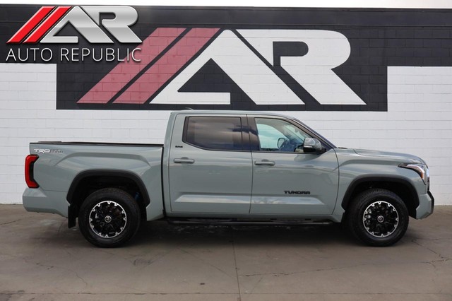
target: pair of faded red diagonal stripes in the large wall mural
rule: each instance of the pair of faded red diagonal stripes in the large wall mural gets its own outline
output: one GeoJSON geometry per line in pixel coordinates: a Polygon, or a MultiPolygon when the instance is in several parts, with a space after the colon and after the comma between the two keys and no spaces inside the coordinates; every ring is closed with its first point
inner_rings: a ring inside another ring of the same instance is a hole
{"type": "Polygon", "coordinates": [[[113,98],[114,103],[145,103],[171,81],[218,30],[157,28],[143,41],[141,52],[136,54],[141,61],[129,58],[117,64],[77,103],[106,104],[113,98]]]}

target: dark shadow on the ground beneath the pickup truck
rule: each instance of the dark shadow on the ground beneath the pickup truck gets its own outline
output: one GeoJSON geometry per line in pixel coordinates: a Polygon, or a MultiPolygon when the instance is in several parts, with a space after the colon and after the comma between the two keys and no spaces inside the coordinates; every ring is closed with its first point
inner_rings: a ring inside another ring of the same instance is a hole
{"type": "MultiPolygon", "coordinates": [[[[61,218],[52,225],[33,228],[32,240],[45,242],[47,247],[90,247],[78,225],[67,228],[61,218]]],[[[409,243],[417,237],[415,229],[408,229],[405,239],[396,245],[409,243]],[[410,238],[411,237],[411,238],[410,238]]],[[[351,237],[338,223],[331,225],[172,225],[166,221],[142,223],[135,237],[117,249],[143,247],[221,247],[234,244],[240,247],[368,247],[351,237]]]]}

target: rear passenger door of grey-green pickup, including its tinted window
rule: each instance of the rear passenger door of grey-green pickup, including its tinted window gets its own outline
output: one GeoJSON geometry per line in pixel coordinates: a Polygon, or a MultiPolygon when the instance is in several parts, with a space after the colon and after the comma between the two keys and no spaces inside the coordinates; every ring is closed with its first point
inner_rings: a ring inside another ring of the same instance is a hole
{"type": "Polygon", "coordinates": [[[252,164],[246,116],[180,114],[174,129],[168,165],[172,213],[248,214],[252,164]]]}

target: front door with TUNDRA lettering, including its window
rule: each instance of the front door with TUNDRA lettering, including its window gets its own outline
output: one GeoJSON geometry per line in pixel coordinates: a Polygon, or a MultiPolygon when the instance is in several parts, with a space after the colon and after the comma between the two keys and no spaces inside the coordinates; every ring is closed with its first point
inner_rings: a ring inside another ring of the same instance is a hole
{"type": "MultiPolygon", "coordinates": [[[[252,215],[328,215],[338,194],[338,160],[333,149],[303,153],[300,124],[274,117],[249,117],[254,128],[252,215]]],[[[252,142],[253,143],[253,142],[252,142]]]]}

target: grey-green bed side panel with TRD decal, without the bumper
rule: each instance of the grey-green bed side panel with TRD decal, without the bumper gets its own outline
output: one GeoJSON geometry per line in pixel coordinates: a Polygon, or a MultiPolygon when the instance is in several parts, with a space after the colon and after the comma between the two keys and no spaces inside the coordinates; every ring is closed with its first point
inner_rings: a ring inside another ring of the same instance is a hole
{"type": "MultiPolygon", "coordinates": [[[[59,191],[67,197],[73,179],[81,172],[95,170],[126,171],[139,177],[148,190],[148,220],[163,216],[161,160],[162,146],[125,146],[95,144],[30,144],[30,153],[40,158],[34,177],[40,189],[59,191]],[[42,149],[55,150],[42,153],[42,149]],[[37,151],[38,150],[38,151],[37,151]]],[[[52,194],[47,193],[47,195],[52,194]]],[[[54,200],[61,202],[64,200],[54,200]]]]}

